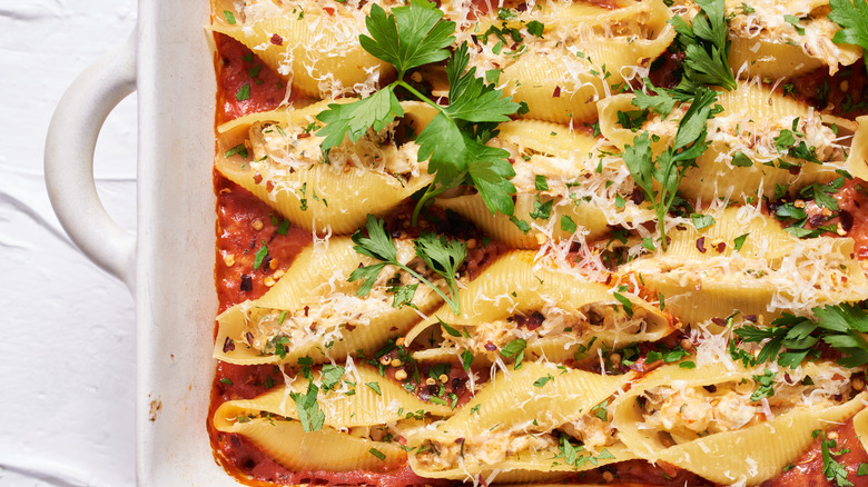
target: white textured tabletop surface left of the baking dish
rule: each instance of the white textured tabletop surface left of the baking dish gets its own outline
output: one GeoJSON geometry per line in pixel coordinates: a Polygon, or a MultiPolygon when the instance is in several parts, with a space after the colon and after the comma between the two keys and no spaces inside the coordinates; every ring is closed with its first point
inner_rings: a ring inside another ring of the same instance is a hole
{"type": "MultiPolygon", "coordinates": [[[[0,0],[0,486],[135,484],[134,305],[51,211],[42,147],[53,107],[127,39],[135,0],[0,0]]],[[[135,228],[136,100],[97,146],[103,205],[135,228]]]]}

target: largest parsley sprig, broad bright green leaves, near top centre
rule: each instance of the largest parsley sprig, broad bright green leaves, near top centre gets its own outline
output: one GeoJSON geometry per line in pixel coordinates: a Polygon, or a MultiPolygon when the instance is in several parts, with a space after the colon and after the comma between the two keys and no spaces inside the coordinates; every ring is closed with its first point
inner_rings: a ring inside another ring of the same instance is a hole
{"type": "Polygon", "coordinates": [[[374,4],[366,19],[371,36],[359,36],[362,47],[372,56],[392,63],[397,79],[371,97],[346,105],[329,105],[317,118],[328,123],[317,135],[325,137],[323,151],[328,152],[344,137],[355,142],[368,129],[382,130],[404,115],[395,93],[401,87],[418,100],[434,107],[436,117],[416,137],[418,160],[428,160],[428,173],[436,175],[413,212],[413,225],[420,211],[438,195],[462,185],[473,186],[492,213],[507,216],[514,211],[515,187],[510,178],[515,171],[509,152],[485,146],[496,132],[496,123],[507,121],[521,106],[476,77],[470,68],[467,44],[454,54],[446,49],[454,41],[455,23],[443,20],[443,12],[427,0],[413,0],[387,14],[374,4]],[[448,59],[448,105],[441,106],[404,81],[412,69],[448,59]]]}

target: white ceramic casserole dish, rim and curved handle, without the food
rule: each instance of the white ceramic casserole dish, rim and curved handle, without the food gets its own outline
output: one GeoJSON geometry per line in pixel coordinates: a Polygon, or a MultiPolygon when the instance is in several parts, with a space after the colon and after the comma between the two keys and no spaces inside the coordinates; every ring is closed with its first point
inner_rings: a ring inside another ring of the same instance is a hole
{"type": "Polygon", "coordinates": [[[217,310],[208,16],[207,1],[141,1],[136,31],[73,82],[46,143],[46,182],[61,225],[136,299],[140,486],[238,485],[216,464],[206,431],[217,310]],[[136,236],[108,217],[92,173],[99,129],[134,90],[136,236]]]}

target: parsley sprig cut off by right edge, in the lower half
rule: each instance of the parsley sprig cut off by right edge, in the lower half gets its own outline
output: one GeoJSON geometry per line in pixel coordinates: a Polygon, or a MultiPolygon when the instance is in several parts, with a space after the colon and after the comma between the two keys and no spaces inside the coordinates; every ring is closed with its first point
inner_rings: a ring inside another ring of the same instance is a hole
{"type": "Polygon", "coordinates": [[[838,364],[859,367],[868,364],[868,342],[861,334],[868,332],[868,314],[854,305],[827,305],[812,309],[816,320],[785,312],[768,328],[744,326],[736,335],[746,342],[768,341],[751,365],[775,361],[796,368],[806,358],[817,357],[816,346],[823,341],[844,354],[838,364]],[[786,348],[787,351],[780,351],[786,348]]]}

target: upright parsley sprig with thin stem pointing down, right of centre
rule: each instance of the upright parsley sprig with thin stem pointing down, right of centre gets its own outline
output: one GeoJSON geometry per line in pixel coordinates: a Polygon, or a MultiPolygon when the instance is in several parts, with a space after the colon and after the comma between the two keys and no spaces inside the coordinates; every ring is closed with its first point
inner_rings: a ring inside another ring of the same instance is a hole
{"type": "MultiPolygon", "coordinates": [[[[678,197],[678,187],[688,169],[697,166],[697,158],[708,149],[706,122],[722,109],[716,105],[717,92],[699,87],[690,108],[678,125],[672,145],[660,156],[651,149],[652,138],[642,132],[625,146],[623,158],[637,186],[647,201],[651,201],[660,227],[660,244],[667,249],[665,217],[678,197]],[[655,186],[659,185],[658,190],[655,186]]],[[[644,102],[644,101],[643,101],[644,102]]],[[[668,107],[667,107],[668,108],[668,107]]],[[[663,109],[665,111],[665,109],[663,109]]]]}

